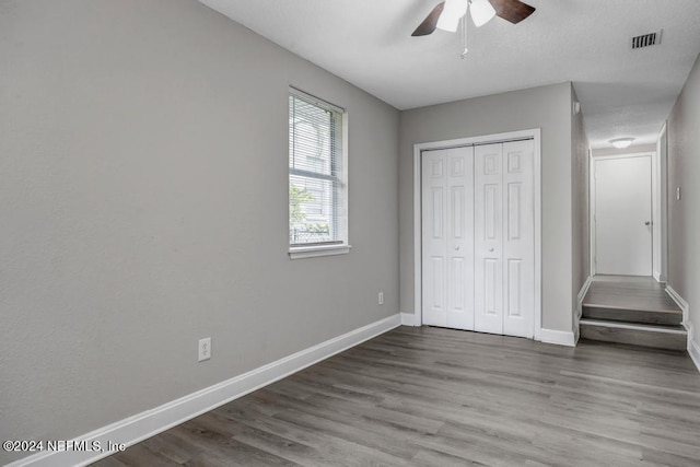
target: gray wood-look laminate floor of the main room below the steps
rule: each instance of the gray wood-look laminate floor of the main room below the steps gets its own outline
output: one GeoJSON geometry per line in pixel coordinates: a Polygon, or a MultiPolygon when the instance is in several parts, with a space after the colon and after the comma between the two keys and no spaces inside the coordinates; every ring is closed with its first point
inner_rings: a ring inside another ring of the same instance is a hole
{"type": "Polygon", "coordinates": [[[107,466],[699,466],[681,352],[400,327],[107,466]]]}

